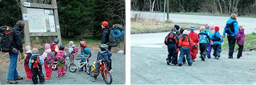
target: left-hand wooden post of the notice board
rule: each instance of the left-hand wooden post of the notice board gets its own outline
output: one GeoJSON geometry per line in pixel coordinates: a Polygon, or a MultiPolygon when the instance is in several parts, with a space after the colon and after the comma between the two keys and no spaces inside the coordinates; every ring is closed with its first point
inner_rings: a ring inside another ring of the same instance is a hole
{"type": "MultiPolygon", "coordinates": [[[[27,0],[21,0],[21,13],[22,13],[22,17],[23,14],[28,14],[27,11],[27,7],[24,6],[24,2],[26,2],[27,0]]],[[[31,43],[30,43],[30,31],[29,31],[29,21],[28,20],[23,20],[25,22],[25,26],[24,26],[24,39],[25,39],[25,46],[29,45],[32,47],[31,43]]]]}

